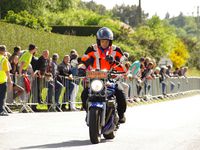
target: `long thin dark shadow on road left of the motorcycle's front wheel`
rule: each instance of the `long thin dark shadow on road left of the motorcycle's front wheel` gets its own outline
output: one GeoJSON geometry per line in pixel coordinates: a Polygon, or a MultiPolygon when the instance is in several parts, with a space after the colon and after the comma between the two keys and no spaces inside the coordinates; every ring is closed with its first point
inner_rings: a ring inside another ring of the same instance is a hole
{"type": "MultiPolygon", "coordinates": [[[[104,143],[105,140],[101,140],[101,143],[104,143]]],[[[76,146],[86,146],[86,145],[92,145],[90,140],[72,140],[67,142],[61,142],[61,143],[52,143],[52,144],[44,144],[44,145],[35,145],[35,146],[27,146],[27,147],[21,147],[19,149],[37,149],[37,148],[62,148],[62,147],[76,147],[76,146]]]]}

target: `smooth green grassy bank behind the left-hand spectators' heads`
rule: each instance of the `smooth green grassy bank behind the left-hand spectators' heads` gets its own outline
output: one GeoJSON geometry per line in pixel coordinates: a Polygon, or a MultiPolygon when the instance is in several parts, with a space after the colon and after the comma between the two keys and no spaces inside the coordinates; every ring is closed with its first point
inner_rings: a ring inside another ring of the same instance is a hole
{"type": "Polygon", "coordinates": [[[22,49],[27,49],[30,43],[34,43],[38,47],[38,56],[41,55],[42,50],[48,49],[51,55],[57,52],[62,58],[69,54],[71,49],[76,49],[82,55],[86,48],[94,42],[95,37],[92,36],[60,35],[0,22],[0,44],[6,45],[10,53],[17,45],[22,49]]]}

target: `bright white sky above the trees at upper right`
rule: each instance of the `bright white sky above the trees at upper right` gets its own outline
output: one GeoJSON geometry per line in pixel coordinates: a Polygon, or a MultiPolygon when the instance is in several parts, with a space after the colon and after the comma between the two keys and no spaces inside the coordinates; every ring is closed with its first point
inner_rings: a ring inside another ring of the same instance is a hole
{"type": "MultiPolygon", "coordinates": [[[[83,0],[91,1],[91,0],[83,0]]],[[[139,0],[93,0],[97,4],[103,4],[107,9],[111,9],[116,4],[138,5],[139,0]]],[[[163,19],[167,12],[170,17],[178,16],[183,12],[187,16],[197,16],[197,6],[200,7],[200,0],[141,0],[142,10],[152,15],[158,15],[163,19]]]]}

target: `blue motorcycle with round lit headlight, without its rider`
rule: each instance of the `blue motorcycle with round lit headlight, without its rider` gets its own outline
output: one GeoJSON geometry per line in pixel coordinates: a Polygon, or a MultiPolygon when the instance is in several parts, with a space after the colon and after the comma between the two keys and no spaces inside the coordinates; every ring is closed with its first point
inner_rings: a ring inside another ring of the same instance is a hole
{"type": "Polygon", "coordinates": [[[120,75],[116,71],[88,71],[89,96],[86,123],[90,141],[97,144],[103,134],[105,139],[114,139],[119,128],[115,89],[120,75]],[[114,76],[114,78],[113,78],[114,76]]]}

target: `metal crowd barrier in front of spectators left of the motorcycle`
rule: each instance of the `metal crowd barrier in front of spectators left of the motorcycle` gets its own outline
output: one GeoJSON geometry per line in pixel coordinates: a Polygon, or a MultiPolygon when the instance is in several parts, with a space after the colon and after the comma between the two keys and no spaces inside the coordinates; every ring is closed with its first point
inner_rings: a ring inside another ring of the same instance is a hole
{"type": "MultiPolygon", "coordinates": [[[[21,106],[20,112],[33,112],[32,106],[45,104],[48,111],[62,111],[62,105],[68,105],[71,110],[75,109],[76,97],[79,90],[80,79],[69,80],[60,76],[60,82],[51,77],[34,77],[29,76],[31,82],[31,92],[26,91],[16,99],[13,98],[13,91],[7,91],[5,107],[21,106]]],[[[16,77],[16,84],[25,88],[24,77],[16,77]]],[[[11,110],[9,110],[11,111],[11,110]]]]}

